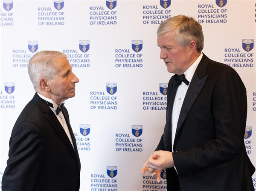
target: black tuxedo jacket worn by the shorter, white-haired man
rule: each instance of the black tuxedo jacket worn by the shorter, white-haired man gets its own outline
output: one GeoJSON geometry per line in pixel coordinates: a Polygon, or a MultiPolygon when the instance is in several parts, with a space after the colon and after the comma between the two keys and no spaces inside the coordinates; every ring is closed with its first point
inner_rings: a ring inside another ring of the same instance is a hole
{"type": "Polygon", "coordinates": [[[53,111],[35,94],[12,130],[2,191],[79,191],[80,160],[67,109],[63,114],[73,145],[53,111]]]}

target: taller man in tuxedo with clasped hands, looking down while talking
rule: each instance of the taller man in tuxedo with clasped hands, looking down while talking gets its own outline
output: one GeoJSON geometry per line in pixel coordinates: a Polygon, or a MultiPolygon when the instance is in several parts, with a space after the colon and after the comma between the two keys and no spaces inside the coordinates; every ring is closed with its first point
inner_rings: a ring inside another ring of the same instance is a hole
{"type": "Polygon", "coordinates": [[[160,181],[166,170],[168,191],[254,191],[241,78],[202,53],[202,27],[192,17],[177,15],[161,23],[157,45],[175,75],[168,84],[163,135],[142,173],[160,181]]]}

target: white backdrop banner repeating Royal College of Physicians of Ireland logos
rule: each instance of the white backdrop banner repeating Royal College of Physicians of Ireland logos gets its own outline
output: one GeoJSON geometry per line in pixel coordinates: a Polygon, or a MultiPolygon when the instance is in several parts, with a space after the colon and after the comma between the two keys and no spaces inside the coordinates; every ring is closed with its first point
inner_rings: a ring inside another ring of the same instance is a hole
{"type": "Polygon", "coordinates": [[[173,75],[159,58],[156,31],[177,14],[195,17],[204,54],[241,76],[244,142],[256,166],[255,0],[0,0],[0,190],[12,127],[35,94],[28,61],[57,50],[80,80],[76,97],[65,101],[81,159],[80,191],[166,191],[165,174],[157,183],[140,171],[163,134],[173,75]]]}

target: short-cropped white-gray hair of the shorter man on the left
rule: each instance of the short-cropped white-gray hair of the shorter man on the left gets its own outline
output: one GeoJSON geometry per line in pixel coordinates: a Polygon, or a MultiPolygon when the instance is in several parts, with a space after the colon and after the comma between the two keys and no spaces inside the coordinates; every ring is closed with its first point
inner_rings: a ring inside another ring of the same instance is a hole
{"type": "Polygon", "coordinates": [[[29,60],[29,77],[35,90],[40,88],[40,78],[52,80],[58,73],[55,65],[58,58],[67,58],[67,55],[59,51],[39,51],[29,60]]]}

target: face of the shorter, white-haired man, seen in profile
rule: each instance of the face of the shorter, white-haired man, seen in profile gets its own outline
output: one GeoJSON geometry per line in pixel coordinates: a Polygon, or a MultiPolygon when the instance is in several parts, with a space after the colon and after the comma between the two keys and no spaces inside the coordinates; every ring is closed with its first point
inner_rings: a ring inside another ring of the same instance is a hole
{"type": "Polygon", "coordinates": [[[58,73],[53,80],[48,80],[48,83],[51,88],[52,100],[60,105],[64,100],[76,95],[75,86],[79,79],[72,72],[72,67],[66,58],[58,58],[56,66],[58,73]]]}

